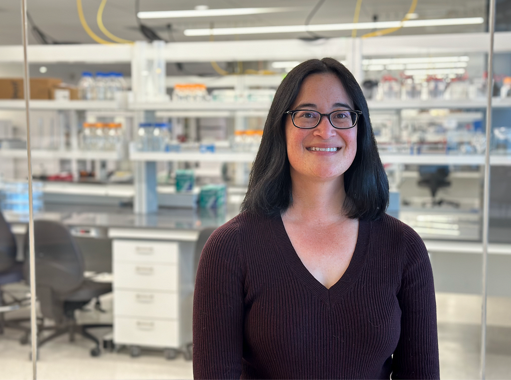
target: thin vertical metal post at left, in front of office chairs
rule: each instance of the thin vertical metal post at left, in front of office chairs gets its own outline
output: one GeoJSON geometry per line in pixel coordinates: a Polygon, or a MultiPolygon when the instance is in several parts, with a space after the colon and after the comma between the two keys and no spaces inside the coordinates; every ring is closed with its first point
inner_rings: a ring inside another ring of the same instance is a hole
{"type": "Polygon", "coordinates": [[[35,253],[34,253],[34,213],[32,207],[32,152],[30,146],[30,76],[27,57],[28,26],[27,0],[21,0],[21,30],[23,36],[23,66],[25,71],[25,113],[27,116],[27,158],[29,176],[29,249],[30,249],[30,326],[32,332],[32,376],[37,379],[37,316],[35,310],[35,253]]]}

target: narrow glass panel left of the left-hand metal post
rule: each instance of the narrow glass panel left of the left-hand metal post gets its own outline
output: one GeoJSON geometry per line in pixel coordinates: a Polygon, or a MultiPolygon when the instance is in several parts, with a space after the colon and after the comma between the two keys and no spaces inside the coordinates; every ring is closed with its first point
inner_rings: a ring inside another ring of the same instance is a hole
{"type": "MultiPolygon", "coordinates": [[[[0,6],[0,45],[20,45],[19,2],[0,6]],[[7,31],[7,29],[9,31],[7,31]]],[[[31,378],[27,123],[22,61],[0,58],[0,378],[31,378]],[[19,100],[11,100],[19,99],[19,100]],[[10,155],[10,150],[16,154],[10,155]]],[[[35,185],[37,192],[37,185],[35,185]]]]}

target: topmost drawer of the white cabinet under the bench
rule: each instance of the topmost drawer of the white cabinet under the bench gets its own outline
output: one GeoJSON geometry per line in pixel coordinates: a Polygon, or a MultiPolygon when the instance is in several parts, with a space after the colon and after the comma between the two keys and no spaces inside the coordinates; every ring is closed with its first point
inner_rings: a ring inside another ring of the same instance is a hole
{"type": "Polygon", "coordinates": [[[144,240],[114,240],[113,260],[145,263],[177,263],[179,244],[144,240]]]}

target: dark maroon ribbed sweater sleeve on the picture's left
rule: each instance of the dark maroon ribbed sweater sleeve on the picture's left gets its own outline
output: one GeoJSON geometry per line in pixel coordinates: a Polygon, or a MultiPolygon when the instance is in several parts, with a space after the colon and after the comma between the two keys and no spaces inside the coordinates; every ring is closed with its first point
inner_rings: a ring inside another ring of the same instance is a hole
{"type": "Polygon", "coordinates": [[[195,380],[239,380],[243,354],[244,263],[235,221],[218,228],[199,261],[193,306],[195,380]]]}

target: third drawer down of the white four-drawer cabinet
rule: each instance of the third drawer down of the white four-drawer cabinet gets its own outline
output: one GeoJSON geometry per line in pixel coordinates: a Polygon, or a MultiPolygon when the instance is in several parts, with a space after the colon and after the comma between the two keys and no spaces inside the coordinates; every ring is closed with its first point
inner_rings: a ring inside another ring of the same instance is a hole
{"type": "Polygon", "coordinates": [[[134,292],[116,290],[113,313],[124,317],[178,318],[176,293],[134,292]]]}

